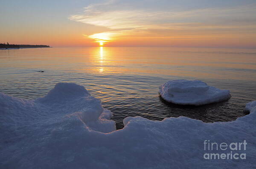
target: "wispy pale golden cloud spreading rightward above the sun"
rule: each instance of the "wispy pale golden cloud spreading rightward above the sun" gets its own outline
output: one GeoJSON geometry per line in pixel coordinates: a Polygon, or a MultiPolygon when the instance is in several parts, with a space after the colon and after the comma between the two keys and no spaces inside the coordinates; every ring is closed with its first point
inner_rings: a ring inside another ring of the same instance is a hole
{"type": "MultiPolygon", "coordinates": [[[[224,33],[229,30],[253,30],[256,28],[256,4],[216,7],[193,8],[190,10],[147,6],[131,8],[122,1],[110,0],[105,3],[91,4],[85,7],[84,13],[69,17],[81,23],[102,26],[110,29],[108,32],[89,35],[92,39],[110,41],[122,36],[173,36],[174,34],[207,34],[224,33]],[[208,31],[208,32],[207,32],[208,31]]],[[[131,1],[133,7],[137,1],[131,1]]],[[[166,6],[172,6],[172,1],[166,1],[166,6]]]]}

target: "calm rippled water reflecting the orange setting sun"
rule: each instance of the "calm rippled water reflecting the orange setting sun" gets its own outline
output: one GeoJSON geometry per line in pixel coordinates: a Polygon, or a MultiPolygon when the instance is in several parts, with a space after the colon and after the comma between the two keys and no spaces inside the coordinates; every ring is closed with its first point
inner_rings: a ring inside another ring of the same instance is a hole
{"type": "Polygon", "coordinates": [[[36,99],[58,82],[83,85],[113,112],[117,128],[127,116],[151,120],[180,115],[205,122],[233,121],[256,100],[256,50],[207,48],[36,48],[0,50],[0,92],[36,99]],[[43,70],[44,72],[37,72],[43,70]],[[158,96],[173,79],[199,79],[228,89],[229,101],[177,106],[158,96]]]}

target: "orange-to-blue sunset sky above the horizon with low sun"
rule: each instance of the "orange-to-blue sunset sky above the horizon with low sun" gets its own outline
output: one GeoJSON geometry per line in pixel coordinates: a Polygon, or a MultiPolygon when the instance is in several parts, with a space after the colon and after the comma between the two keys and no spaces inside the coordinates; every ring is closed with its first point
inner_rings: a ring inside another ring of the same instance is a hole
{"type": "Polygon", "coordinates": [[[255,0],[6,0],[0,42],[256,48],[255,0]]]}

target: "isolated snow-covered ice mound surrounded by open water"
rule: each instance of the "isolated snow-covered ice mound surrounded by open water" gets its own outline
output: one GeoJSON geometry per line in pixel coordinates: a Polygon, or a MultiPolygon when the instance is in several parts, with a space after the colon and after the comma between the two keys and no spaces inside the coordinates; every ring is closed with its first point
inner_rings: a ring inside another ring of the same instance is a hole
{"type": "Polygon", "coordinates": [[[203,105],[225,101],[230,98],[229,90],[220,90],[195,80],[172,80],[159,87],[161,97],[174,104],[203,105]]]}

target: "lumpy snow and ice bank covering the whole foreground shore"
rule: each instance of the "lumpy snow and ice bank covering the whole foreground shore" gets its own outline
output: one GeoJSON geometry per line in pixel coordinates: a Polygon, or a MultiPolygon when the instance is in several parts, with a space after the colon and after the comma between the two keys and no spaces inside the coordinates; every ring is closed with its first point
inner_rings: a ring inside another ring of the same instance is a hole
{"type": "Polygon", "coordinates": [[[37,100],[0,93],[0,168],[253,168],[255,104],[247,104],[249,115],[231,122],[128,117],[122,130],[113,131],[111,112],[79,85],[59,83],[37,100]],[[246,159],[204,159],[215,152],[204,150],[205,140],[246,140],[246,150],[233,151],[246,153],[246,159]]]}

